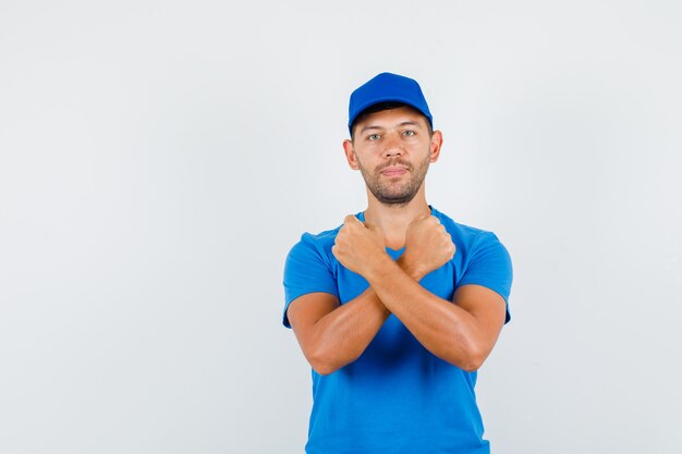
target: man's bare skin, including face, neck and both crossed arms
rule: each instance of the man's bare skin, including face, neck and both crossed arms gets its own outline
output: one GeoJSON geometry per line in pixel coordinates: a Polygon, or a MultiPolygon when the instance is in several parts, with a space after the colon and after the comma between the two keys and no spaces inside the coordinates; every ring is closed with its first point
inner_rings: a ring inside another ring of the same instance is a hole
{"type": "Polygon", "coordinates": [[[427,120],[411,108],[373,113],[344,140],[349,165],[363,174],[368,206],[365,222],[348,216],[332,253],[369,287],[340,305],[327,293],[291,303],[289,320],[310,366],[331,373],[362,355],[393,314],[434,355],[464,370],[478,369],[504,323],[506,304],[479,285],[459,287],[452,300],[418,281],[455,254],[452,238],[430,216],[424,177],[438,160],[442,134],[429,135],[427,120]],[[386,247],[405,247],[399,260],[386,247]]]}

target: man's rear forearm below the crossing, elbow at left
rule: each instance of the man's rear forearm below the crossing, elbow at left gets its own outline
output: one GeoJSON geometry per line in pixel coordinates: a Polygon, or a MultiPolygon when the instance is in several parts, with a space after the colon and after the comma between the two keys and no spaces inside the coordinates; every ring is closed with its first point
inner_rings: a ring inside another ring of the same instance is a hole
{"type": "Polygon", "coordinates": [[[367,348],[390,311],[368,287],[354,299],[321,317],[310,331],[306,357],[321,375],[354,361],[367,348]]]}

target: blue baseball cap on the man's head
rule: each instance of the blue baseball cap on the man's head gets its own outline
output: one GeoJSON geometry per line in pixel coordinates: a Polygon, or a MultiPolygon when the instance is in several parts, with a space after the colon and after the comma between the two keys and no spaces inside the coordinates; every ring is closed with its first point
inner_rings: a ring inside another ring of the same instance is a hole
{"type": "Polygon", "coordinates": [[[413,78],[391,73],[381,73],[351,94],[349,105],[349,131],[352,133],[353,122],[364,110],[379,102],[402,102],[415,108],[428,119],[434,127],[431,112],[419,84],[413,78]]]}

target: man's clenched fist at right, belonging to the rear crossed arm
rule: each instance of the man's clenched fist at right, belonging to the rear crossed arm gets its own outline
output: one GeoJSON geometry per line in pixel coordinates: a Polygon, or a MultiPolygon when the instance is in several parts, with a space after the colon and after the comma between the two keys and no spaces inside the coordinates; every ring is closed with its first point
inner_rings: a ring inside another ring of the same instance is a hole
{"type": "Polygon", "coordinates": [[[454,257],[452,237],[435,216],[424,216],[407,225],[405,251],[400,265],[419,280],[454,257]]]}

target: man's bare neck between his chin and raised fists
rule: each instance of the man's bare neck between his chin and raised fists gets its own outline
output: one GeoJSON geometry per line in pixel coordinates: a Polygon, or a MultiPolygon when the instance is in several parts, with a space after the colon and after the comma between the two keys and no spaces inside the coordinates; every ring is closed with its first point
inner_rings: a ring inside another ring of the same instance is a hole
{"type": "Polygon", "coordinates": [[[405,205],[385,205],[369,196],[365,221],[383,231],[386,246],[391,249],[400,249],[405,245],[405,232],[410,222],[430,213],[424,193],[419,193],[405,205]]]}

